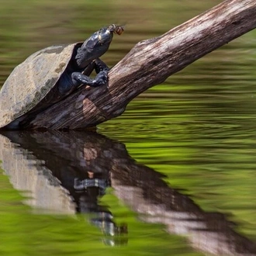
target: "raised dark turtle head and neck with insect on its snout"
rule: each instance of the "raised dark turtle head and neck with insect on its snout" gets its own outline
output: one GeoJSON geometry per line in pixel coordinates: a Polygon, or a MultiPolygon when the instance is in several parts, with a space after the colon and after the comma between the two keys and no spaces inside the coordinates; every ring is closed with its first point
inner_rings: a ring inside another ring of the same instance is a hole
{"type": "Polygon", "coordinates": [[[93,60],[101,57],[109,49],[112,41],[113,33],[121,34],[123,32],[122,26],[112,24],[108,27],[99,29],[90,36],[78,48],[78,53],[75,57],[79,67],[86,67],[93,60]]]}

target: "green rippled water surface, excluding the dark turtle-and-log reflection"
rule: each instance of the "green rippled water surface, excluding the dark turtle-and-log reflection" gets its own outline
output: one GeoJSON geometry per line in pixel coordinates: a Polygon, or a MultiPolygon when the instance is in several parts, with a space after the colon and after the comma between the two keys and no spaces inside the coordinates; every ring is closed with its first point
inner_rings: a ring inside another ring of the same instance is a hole
{"type": "MultiPolygon", "coordinates": [[[[138,41],[218,2],[1,2],[0,85],[36,50],[84,40],[112,22],[126,24],[102,58],[112,66],[138,41]]],[[[196,61],[130,102],[123,116],[99,126],[99,133],[125,144],[130,157],[165,175],[159,179],[189,195],[203,212],[225,214],[236,223],[232,230],[251,243],[256,241],[255,36],[251,31],[196,61]]],[[[46,214],[25,205],[5,175],[0,192],[3,255],[203,254],[190,246],[187,235],[169,234],[163,223],[139,217],[111,188],[100,204],[129,228],[128,242],[118,247],[102,242],[104,235],[86,214],[46,214]]]]}

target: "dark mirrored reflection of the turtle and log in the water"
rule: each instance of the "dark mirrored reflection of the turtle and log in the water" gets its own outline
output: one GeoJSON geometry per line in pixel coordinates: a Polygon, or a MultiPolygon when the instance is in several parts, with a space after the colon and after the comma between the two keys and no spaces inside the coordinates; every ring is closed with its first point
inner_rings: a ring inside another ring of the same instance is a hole
{"type": "Polygon", "coordinates": [[[16,189],[31,192],[30,205],[62,213],[97,213],[92,222],[101,228],[107,223],[104,232],[127,233],[125,224],[117,227],[109,210],[99,206],[99,196],[111,185],[141,220],[164,223],[168,232],[185,235],[200,251],[256,255],[256,244],[238,234],[225,215],[204,212],[189,196],[171,189],[164,175],[138,164],[118,141],[74,131],[2,134],[2,168],[16,189]]]}

